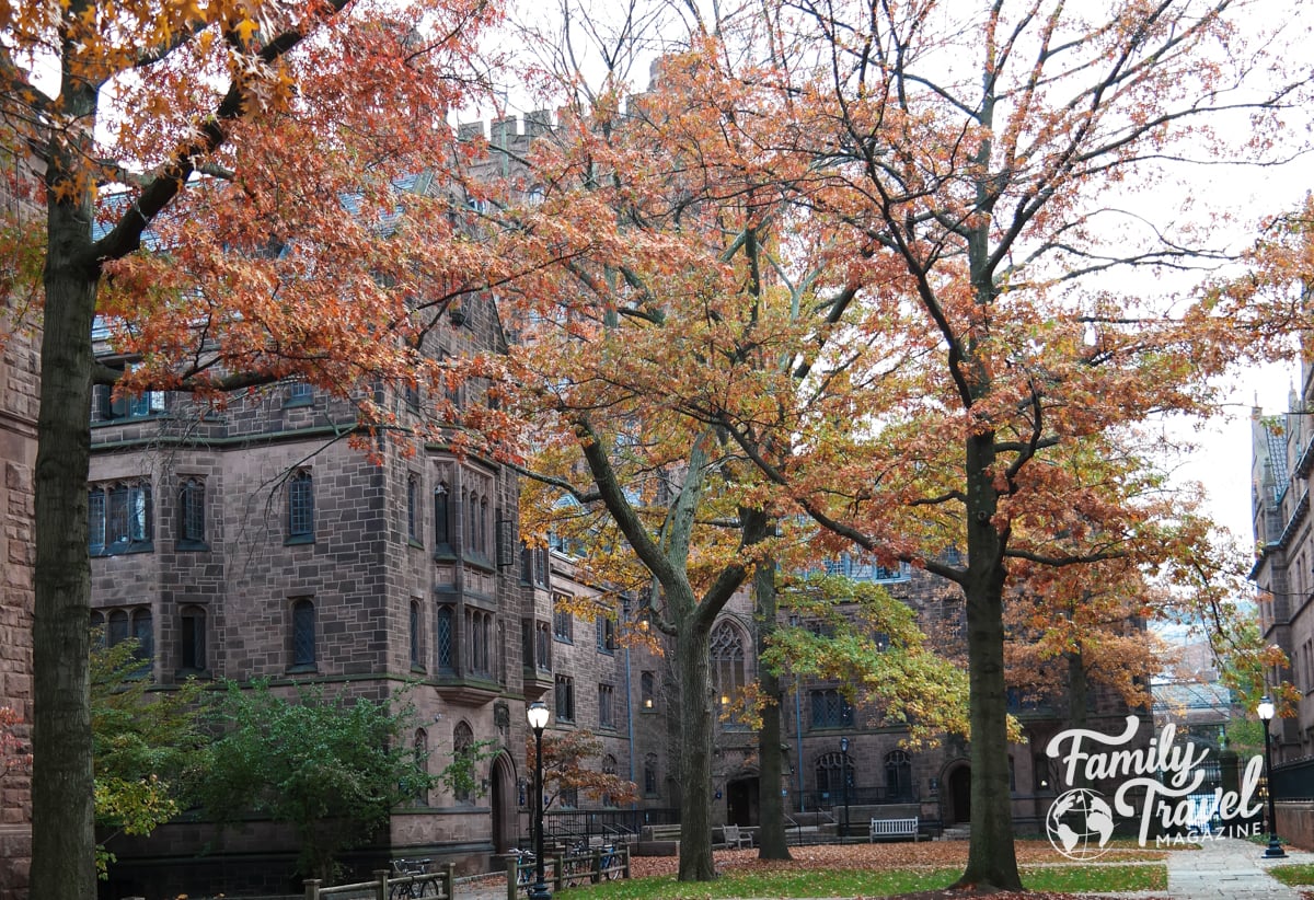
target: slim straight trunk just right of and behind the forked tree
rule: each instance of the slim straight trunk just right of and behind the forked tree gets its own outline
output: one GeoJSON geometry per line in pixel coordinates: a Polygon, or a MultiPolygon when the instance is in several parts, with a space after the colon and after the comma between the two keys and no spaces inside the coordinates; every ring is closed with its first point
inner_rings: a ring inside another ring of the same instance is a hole
{"type": "MultiPolygon", "coordinates": [[[[754,607],[757,608],[757,658],[762,658],[775,631],[775,565],[759,562],[753,577],[754,607]]],[[[766,666],[757,673],[758,685],[766,703],[762,707],[762,728],[757,733],[758,755],[758,829],[759,859],[792,859],[784,836],[784,798],[781,796],[781,678],[766,666]]],[[[802,763],[802,761],[800,761],[802,763]]]]}

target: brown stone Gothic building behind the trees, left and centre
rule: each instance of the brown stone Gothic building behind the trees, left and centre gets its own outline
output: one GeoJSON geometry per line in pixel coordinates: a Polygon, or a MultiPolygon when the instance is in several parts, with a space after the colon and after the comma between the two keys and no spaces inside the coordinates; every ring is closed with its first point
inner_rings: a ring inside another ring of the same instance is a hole
{"type": "MultiPolygon", "coordinates": [[[[494,122],[490,142],[523,151],[541,122],[531,117],[523,130],[511,120],[494,122]]],[[[430,352],[456,356],[505,340],[487,298],[465,301],[448,326],[432,332],[430,352]]],[[[7,560],[30,552],[22,523],[30,515],[35,368],[34,352],[18,348],[7,348],[9,407],[0,411],[0,440],[14,441],[5,447],[0,487],[0,508],[17,516],[0,537],[7,560]]],[[[102,349],[106,364],[131,364],[102,349]]],[[[426,414],[427,398],[415,392],[390,392],[386,402],[402,422],[426,414]]],[[[689,790],[710,791],[716,821],[761,824],[757,736],[731,712],[737,688],[757,677],[745,595],[712,635],[716,692],[727,707],[714,783],[683,784],[669,654],[618,640],[640,627],[629,604],[618,610],[599,599],[598,615],[566,611],[603,594],[579,577],[566,547],[522,545],[519,485],[509,469],[442,444],[414,455],[380,444],[378,459],[367,459],[344,440],[355,424],[350,406],[301,382],[234,397],[215,410],[181,395],[113,398],[97,390],[89,416],[92,621],[110,642],[138,639],[156,685],[167,690],[193,675],[263,678],[277,690],[321,683],[386,698],[414,683],[411,740],[430,753],[432,771],[456,748],[494,741],[480,790],[417,798],[348,862],[430,857],[474,871],[523,842],[532,791],[524,711],[537,699],[552,709],[549,729],[597,733],[603,752],[587,765],[629,778],[639,792],[625,808],[568,798],[551,828],[636,830],[670,820],[689,790]]],[[[950,650],[961,642],[962,596],[953,586],[908,568],[836,565],[912,604],[933,641],[950,650]]],[[[20,639],[30,616],[24,573],[5,568],[0,620],[20,639]]],[[[26,644],[3,646],[9,656],[0,654],[0,696],[25,703],[26,644]],[[11,657],[24,658],[11,665],[11,657]]],[[[786,682],[786,776],[778,790],[790,815],[834,822],[846,807],[858,824],[892,808],[946,826],[970,822],[966,745],[908,749],[904,729],[882,724],[876,709],[850,703],[840,687],[786,682]]],[[[1020,699],[1014,712],[1030,742],[1012,754],[1013,813],[1020,830],[1034,832],[1055,794],[1045,741],[1063,724],[1054,704],[1020,699]]],[[[1099,698],[1096,719],[1123,713],[1116,700],[1099,698]]],[[[14,803],[26,809],[22,798],[14,803]]],[[[148,840],[114,838],[109,849],[120,859],[110,896],[296,887],[290,834],[268,822],[217,834],[184,819],[148,840]]]]}

